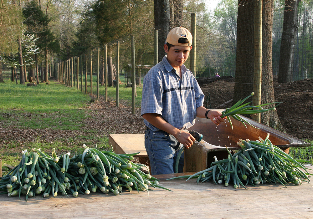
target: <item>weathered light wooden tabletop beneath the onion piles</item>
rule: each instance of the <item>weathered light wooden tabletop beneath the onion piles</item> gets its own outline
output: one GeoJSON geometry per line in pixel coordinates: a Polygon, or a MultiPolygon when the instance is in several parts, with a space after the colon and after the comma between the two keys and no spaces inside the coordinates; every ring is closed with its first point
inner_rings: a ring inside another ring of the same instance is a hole
{"type": "MultiPolygon", "coordinates": [[[[310,171],[313,173],[313,171],[310,171]]],[[[169,175],[158,175],[166,179],[169,175]]],[[[173,191],[123,192],[119,196],[93,193],[79,197],[0,195],[0,218],[313,218],[313,185],[263,184],[233,189],[195,179],[160,183],[173,191]]]]}

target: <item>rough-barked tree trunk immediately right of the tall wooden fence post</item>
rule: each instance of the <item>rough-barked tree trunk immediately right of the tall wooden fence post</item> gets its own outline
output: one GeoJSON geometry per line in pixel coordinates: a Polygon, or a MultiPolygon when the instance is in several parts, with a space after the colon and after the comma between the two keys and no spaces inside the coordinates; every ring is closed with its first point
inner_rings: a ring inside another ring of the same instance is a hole
{"type": "MultiPolygon", "coordinates": [[[[263,1],[262,13],[262,86],[261,104],[275,102],[272,72],[272,34],[273,34],[273,0],[263,1]]],[[[265,107],[265,106],[264,106],[265,107]]],[[[266,106],[267,109],[274,104],[266,106]]],[[[261,113],[261,123],[276,130],[283,127],[276,110],[261,113]]]]}

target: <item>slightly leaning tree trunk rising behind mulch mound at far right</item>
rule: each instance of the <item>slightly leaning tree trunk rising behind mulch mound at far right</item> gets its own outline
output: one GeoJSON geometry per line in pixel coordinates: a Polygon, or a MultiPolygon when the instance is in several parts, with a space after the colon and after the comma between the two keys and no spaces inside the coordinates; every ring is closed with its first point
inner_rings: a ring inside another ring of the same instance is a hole
{"type": "Polygon", "coordinates": [[[299,0],[285,0],[283,32],[280,44],[278,83],[292,81],[299,0]]]}

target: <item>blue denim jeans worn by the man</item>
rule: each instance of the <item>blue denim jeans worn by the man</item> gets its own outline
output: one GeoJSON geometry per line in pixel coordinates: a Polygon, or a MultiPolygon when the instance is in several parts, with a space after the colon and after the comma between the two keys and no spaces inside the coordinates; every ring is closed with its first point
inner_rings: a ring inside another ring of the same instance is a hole
{"type": "MultiPolygon", "coordinates": [[[[177,154],[182,146],[173,135],[162,130],[152,131],[147,128],[145,131],[145,147],[150,160],[151,174],[174,173],[177,154]]],[[[182,153],[178,172],[182,172],[183,167],[184,154],[182,153]]]]}

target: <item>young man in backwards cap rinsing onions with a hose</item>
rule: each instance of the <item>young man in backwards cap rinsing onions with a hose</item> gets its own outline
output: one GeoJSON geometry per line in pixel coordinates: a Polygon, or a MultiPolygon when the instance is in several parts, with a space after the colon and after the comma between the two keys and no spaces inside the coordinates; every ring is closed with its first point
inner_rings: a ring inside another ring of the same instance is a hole
{"type": "MultiPolygon", "coordinates": [[[[183,27],[167,35],[167,56],[149,70],[143,81],[141,115],[147,126],[145,147],[151,173],[174,173],[177,151],[191,147],[195,138],[183,131],[196,117],[210,118],[219,125],[223,118],[216,110],[203,107],[204,94],[192,72],[184,65],[192,49],[192,35],[183,27]]],[[[179,160],[182,172],[183,156],[179,160]]]]}

